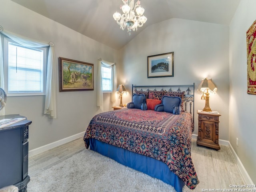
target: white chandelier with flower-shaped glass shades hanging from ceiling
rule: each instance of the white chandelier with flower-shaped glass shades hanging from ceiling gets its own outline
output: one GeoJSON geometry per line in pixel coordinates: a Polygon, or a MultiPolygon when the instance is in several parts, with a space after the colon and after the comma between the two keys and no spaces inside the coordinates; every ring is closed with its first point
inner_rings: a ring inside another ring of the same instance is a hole
{"type": "Polygon", "coordinates": [[[120,6],[124,14],[115,12],[113,14],[114,20],[120,25],[120,28],[124,30],[127,27],[128,34],[131,35],[131,31],[137,31],[138,27],[142,27],[147,21],[147,18],[143,15],[144,8],[140,6],[138,0],[134,5],[134,0],[122,0],[124,5],[120,6]],[[135,14],[136,12],[136,14],[135,14]]]}

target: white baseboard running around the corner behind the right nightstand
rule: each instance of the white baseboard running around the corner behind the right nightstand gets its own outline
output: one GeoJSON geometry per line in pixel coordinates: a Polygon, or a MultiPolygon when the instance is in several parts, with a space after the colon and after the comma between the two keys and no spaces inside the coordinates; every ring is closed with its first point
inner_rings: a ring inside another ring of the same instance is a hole
{"type": "MultiPolygon", "coordinates": [[[[192,134],[193,139],[197,139],[197,136],[198,135],[196,135],[196,134],[192,134]]],[[[232,147],[232,145],[230,144],[230,142],[227,140],[219,139],[219,144],[229,146],[229,150],[236,162],[236,165],[238,166],[238,170],[240,171],[240,173],[242,174],[242,176],[244,178],[244,183],[253,185],[254,183],[252,182],[252,179],[250,178],[248,172],[244,168],[244,165],[240,161],[239,157],[237,156],[237,154],[236,154],[234,148],[232,147]]]]}

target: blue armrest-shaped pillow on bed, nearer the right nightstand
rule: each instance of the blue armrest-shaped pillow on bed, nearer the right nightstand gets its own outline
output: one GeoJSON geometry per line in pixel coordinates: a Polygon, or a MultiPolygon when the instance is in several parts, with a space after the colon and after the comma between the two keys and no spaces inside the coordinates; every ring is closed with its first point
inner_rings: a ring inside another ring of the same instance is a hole
{"type": "Polygon", "coordinates": [[[173,114],[180,114],[180,97],[163,96],[162,104],[155,107],[155,111],[164,111],[173,114]]]}

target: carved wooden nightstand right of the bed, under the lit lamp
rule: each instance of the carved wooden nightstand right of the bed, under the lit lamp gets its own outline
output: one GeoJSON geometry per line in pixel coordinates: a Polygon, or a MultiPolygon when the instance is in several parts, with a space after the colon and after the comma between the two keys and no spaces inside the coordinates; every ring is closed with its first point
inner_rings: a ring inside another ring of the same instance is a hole
{"type": "Polygon", "coordinates": [[[219,145],[219,116],[218,112],[210,113],[198,110],[197,145],[220,149],[219,145]]]}

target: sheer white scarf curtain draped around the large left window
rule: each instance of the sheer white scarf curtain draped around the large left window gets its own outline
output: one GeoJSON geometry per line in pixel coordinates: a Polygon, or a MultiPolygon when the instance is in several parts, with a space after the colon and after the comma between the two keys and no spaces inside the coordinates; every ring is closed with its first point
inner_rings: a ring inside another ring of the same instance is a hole
{"type": "MultiPolygon", "coordinates": [[[[2,29],[0,27],[0,29],[2,29]]],[[[46,78],[46,95],[45,95],[45,105],[44,105],[44,114],[48,114],[50,118],[56,118],[56,82],[55,82],[55,66],[56,60],[54,55],[54,44],[53,42],[45,43],[38,42],[23,36],[19,36],[12,32],[6,30],[0,31],[0,35],[4,34],[14,40],[15,42],[31,48],[38,47],[47,47],[49,46],[48,52],[48,62],[47,62],[47,78],[46,78]]],[[[2,43],[0,43],[0,85],[4,88],[4,64],[3,64],[3,49],[2,43]]]]}

